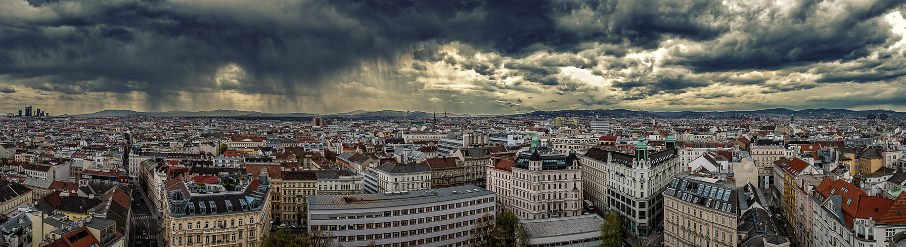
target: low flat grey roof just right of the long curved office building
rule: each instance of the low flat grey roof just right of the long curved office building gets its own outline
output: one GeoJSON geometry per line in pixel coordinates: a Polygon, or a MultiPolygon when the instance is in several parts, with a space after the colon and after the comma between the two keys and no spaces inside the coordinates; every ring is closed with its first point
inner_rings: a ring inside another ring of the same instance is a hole
{"type": "Polygon", "coordinates": [[[598,214],[582,214],[559,218],[520,220],[530,238],[543,238],[578,233],[601,232],[604,219],[598,214]]]}

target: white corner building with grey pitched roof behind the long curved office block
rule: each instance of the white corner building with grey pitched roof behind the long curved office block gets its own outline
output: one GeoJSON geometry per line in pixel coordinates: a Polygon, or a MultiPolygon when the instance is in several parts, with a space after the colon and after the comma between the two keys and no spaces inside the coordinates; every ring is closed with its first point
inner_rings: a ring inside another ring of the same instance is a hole
{"type": "Polygon", "coordinates": [[[427,163],[385,162],[364,172],[365,193],[384,193],[431,188],[431,167],[427,163]]]}

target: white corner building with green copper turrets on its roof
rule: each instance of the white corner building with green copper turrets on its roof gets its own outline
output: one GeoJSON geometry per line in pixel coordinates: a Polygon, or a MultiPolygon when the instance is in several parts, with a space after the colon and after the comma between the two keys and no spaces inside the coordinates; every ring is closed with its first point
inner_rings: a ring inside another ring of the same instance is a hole
{"type": "Polygon", "coordinates": [[[661,192],[682,171],[676,155],[675,139],[667,138],[667,148],[648,151],[643,141],[635,146],[635,155],[621,152],[607,154],[607,207],[622,215],[628,231],[647,235],[663,220],[661,192]]]}

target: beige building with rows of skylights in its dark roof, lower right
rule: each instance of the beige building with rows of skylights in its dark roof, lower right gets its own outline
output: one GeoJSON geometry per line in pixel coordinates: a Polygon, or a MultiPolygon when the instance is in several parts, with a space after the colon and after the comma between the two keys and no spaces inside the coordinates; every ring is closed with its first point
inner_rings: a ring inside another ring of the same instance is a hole
{"type": "Polygon", "coordinates": [[[664,246],[737,246],[735,183],[677,176],[663,196],[664,246]]]}

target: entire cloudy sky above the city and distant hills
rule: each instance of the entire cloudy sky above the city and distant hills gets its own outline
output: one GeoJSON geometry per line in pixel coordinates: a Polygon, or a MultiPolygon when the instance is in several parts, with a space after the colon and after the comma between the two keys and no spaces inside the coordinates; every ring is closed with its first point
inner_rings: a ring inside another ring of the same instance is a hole
{"type": "Polygon", "coordinates": [[[0,1],[0,113],[906,111],[906,2],[0,1]]]}

